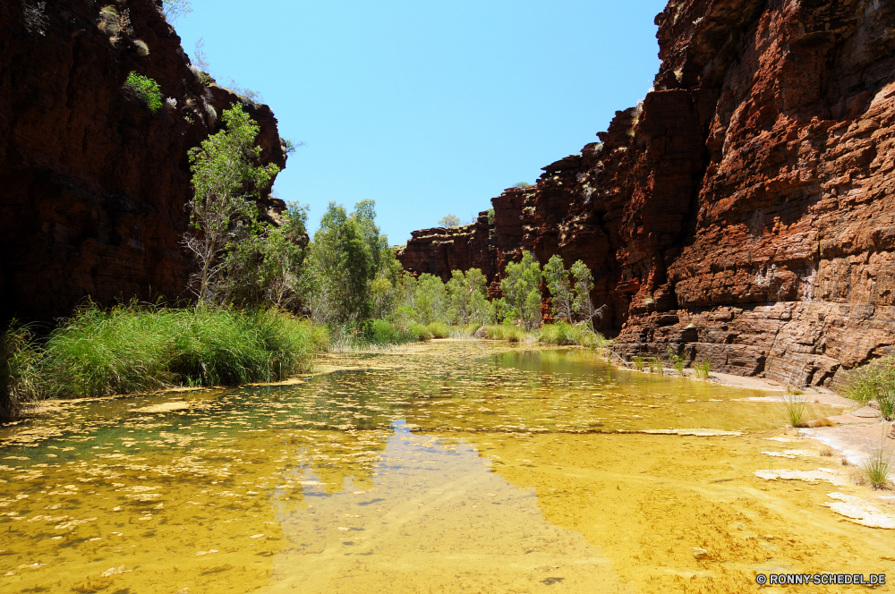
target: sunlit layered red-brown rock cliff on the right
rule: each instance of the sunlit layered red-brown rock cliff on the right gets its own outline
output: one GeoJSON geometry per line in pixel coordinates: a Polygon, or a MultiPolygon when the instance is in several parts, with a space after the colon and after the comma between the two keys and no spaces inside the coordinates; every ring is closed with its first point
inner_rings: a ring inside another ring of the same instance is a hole
{"type": "Polygon", "coordinates": [[[621,352],[794,385],[889,352],[895,2],[672,0],[656,21],[654,90],[545,168],[518,247],[592,267],[621,352]]]}

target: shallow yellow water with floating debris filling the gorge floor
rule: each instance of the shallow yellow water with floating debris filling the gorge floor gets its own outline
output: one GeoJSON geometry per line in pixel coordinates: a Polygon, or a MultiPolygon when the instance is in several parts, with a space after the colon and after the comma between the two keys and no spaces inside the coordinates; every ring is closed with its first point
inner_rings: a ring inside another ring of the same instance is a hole
{"type": "MultiPolygon", "coordinates": [[[[0,429],[0,591],[895,581],[895,533],[823,505],[865,488],[754,475],[836,462],[785,435],[780,404],[749,400],[760,392],[473,341],[325,363],[339,369],[291,386],[64,403],[0,429]],[[657,429],[720,434],[640,432],[657,429]],[[781,450],[799,453],[763,454],[781,450]]],[[[764,591],[825,588],[854,587],[764,591]]]]}

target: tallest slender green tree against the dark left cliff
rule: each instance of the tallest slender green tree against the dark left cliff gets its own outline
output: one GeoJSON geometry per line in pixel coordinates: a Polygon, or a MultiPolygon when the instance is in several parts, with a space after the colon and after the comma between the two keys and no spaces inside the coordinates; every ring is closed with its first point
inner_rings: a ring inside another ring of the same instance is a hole
{"type": "Polygon", "coordinates": [[[189,152],[194,192],[187,203],[191,228],[183,234],[183,245],[199,267],[190,278],[199,303],[214,296],[227,246],[245,227],[258,225],[255,199],[279,171],[277,165],[257,165],[259,126],[242,106],[226,110],[222,120],[225,130],[189,152]]]}

